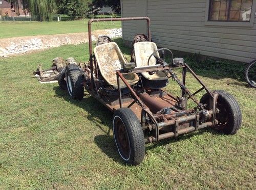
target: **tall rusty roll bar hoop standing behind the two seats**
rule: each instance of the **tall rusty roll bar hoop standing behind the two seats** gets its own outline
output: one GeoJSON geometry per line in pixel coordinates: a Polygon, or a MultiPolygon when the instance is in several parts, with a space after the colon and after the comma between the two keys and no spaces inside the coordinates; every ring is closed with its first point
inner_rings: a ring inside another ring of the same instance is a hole
{"type": "MultiPolygon", "coordinates": [[[[151,41],[150,23],[148,17],[125,17],[125,18],[98,18],[90,19],[88,21],[88,35],[89,35],[89,53],[90,53],[90,67],[91,67],[91,90],[94,91],[94,78],[93,78],[93,46],[92,46],[92,22],[102,21],[125,21],[125,20],[146,20],[147,21],[147,35],[151,41]]],[[[96,73],[95,73],[96,74],[96,73]]]]}

